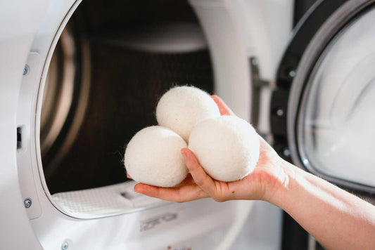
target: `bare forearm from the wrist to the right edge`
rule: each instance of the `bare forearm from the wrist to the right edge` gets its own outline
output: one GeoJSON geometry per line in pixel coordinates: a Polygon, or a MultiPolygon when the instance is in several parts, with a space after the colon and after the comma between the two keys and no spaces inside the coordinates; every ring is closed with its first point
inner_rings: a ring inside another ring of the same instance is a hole
{"type": "Polygon", "coordinates": [[[375,207],[296,166],[269,202],[281,207],[327,249],[375,249],[375,207]]]}

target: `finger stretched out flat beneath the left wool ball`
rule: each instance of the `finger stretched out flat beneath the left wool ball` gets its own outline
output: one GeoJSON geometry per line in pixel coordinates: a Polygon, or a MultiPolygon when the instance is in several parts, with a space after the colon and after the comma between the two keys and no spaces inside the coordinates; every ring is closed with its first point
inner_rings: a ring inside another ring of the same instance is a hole
{"type": "Polygon", "coordinates": [[[155,187],[139,183],[134,186],[134,191],[170,202],[189,202],[208,197],[208,195],[201,190],[201,187],[198,187],[196,184],[184,185],[182,187],[155,187]]]}

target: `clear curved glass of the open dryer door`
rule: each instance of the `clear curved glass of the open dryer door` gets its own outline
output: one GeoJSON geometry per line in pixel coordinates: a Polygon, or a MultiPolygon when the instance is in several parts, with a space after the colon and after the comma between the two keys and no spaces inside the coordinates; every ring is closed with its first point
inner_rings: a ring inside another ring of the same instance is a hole
{"type": "Polygon", "coordinates": [[[298,119],[303,163],[375,186],[375,10],[331,41],[307,84],[298,119]]]}

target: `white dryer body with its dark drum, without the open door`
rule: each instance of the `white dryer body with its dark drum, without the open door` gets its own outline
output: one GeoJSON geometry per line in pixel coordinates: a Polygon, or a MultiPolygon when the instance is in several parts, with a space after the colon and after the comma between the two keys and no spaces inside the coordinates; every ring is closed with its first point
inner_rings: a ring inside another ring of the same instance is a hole
{"type": "MultiPolygon", "coordinates": [[[[136,131],[155,124],[157,99],[171,86],[215,91],[250,121],[248,58],[254,43],[261,43],[247,27],[248,12],[255,6],[272,17],[276,10],[269,4],[3,4],[1,244],[6,249],[241,249],[233,245],[240,237],[255,247],[277,247],[281,212],[276,207],[210,199],[163,202],[135,193],[122,164],[124,145],[136,131]],[[244,226],[255,231],[267,223],[263,237],[241,234],[244,226]]],[[[286,43],[292,4],[280,6],[283,22],[274,23],[286,43]]],[[[266,18],[255,20],[267,27],[266,18]]],[[[269,60],[271,52],[266,54],[269,60]]]]}

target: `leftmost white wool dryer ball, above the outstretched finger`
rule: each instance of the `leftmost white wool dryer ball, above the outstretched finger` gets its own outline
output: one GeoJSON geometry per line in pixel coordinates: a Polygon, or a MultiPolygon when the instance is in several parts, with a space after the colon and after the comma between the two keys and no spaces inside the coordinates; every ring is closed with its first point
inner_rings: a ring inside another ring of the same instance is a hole
{"type": "Polygon", "coordinates": [[[150,126],[133,136],[125,150],[125,168],[134,180],[158,187],[173,187],[188,173],[180,150],[181,136],[163,126],[150,126]]]}

